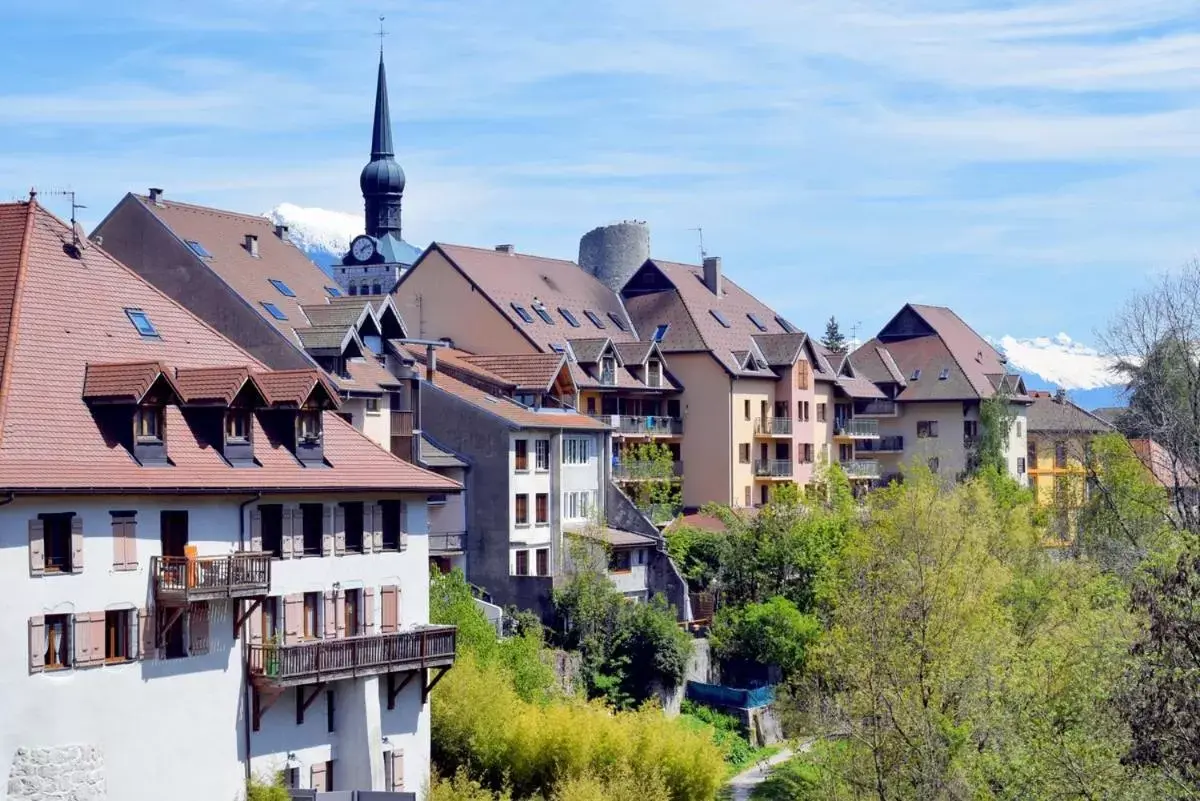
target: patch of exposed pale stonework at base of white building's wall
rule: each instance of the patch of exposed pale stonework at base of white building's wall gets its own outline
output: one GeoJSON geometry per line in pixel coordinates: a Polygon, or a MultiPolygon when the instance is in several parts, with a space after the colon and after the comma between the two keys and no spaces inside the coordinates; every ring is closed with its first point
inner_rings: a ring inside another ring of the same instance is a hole
{"type": "Polygon", "coordinates": [[[8,770],[11,801],[106,801],[104,757],[92,746],[17,748],[8,770]]]}

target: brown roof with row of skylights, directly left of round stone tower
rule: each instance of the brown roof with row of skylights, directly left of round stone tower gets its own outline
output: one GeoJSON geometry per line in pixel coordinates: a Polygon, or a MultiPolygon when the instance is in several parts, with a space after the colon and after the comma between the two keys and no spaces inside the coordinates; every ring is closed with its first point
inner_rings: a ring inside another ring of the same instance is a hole
{"type": "Polygon", "coordinates": [[[617,294],[574,261],[442,242],[434,242],[431,249],[440,251],[542,351],[551,350],[554,343],[589,333],[611,337],[613,342],[637,338],[617,294]],[[541,301],[552,324],[545,323],[534,311],[534,299],[541,301]],[[526,323],[512,303],[524,308],[533,321],[526,323]],[[559,308],[570,312],[580,327],[564,319],[559,308]],[[605,327],[598,329],[584,311],[594,312],[605,327]],[[610,313],[623,321],[625,331],[613,324],[610,313]]]}

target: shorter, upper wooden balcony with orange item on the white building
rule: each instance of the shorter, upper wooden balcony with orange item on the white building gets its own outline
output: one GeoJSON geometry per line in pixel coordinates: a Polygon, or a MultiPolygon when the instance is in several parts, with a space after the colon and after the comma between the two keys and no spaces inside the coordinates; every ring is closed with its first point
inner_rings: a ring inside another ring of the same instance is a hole
{"type": "Polygon", "coordinates": [[[252,598],[271,586],[271,555],[236,553],[223,556],[151,556],[155,600],[163,606],[192,601],[252,598]]]}

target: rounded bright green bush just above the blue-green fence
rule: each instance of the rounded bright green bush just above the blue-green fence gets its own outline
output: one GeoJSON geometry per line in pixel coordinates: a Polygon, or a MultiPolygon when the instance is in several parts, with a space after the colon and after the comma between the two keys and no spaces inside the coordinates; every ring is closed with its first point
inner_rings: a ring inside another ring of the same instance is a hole
{"type": "Polygon", "coordinates": [[[745,660],[775,664],[784,676],[798,675],[816,642],[821,624],[787,598],[775,596],[763,603],[722,607],[709,632],[713,652],[722,662],[745,660]]]}

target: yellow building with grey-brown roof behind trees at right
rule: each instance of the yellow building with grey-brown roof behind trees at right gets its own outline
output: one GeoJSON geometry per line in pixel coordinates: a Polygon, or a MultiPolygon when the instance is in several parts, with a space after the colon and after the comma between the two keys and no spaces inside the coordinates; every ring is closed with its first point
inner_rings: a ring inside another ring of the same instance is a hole
{"type": "Polygon", "coordinates": [[[1058,542],[1074,538],[1076,511],[1087,500],[1087,458],[1092,439],[1112,426],[1067,399],[1066,392],[1030,392],[1028,453],[1025,468],[1038,504],[1055,508],[1058,542]]]}

